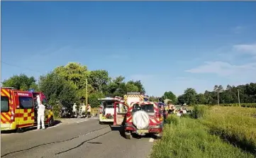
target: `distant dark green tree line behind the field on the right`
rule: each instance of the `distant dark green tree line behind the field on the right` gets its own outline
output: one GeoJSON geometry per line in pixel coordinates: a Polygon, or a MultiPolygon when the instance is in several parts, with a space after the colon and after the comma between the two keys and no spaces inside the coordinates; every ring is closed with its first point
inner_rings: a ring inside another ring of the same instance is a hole
{"type": "MultiPolygon", "coordinates": [[[[172,103],[187,105],[206,104],[217,105],[231,104],[231,103],[256,103],[256,83],[250,83],[239,86],[222,85],[213,86],[213,91],[205,91],[204,94],[197,93],[195,89],[188,88],[184,94],[175,96],[172,91],[166,91],[162,97],[150,96],[151,101],[158,101],[159,99],[169,98],[172,103]],[[239,96],[238,96],[239,95],[239,96]]],[[[255,104],[256,105],[256,104],[255,104]]],[[[256,106],[255,106],[256,107],[256,106]]]]}

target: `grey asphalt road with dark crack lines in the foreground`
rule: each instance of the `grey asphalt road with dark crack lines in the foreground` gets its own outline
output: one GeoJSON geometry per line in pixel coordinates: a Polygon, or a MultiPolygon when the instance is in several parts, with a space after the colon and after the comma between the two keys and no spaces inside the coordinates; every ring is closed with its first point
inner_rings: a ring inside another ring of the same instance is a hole
{"type": "Polygon", "coordinates": [[[119,130],[89,119],[46,130],[2,134],[1,157],[148,157],[152,138],[126,140],[119,130]]]}

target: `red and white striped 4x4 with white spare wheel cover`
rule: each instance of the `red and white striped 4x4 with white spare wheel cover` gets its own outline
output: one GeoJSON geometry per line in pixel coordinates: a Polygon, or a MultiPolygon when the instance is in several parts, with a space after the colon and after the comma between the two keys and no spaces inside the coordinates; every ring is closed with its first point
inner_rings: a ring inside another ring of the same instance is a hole
{"type": "Polygon", "coordinates": [[[147,133],[162,137],[164,119],[161,109],[155,102],[132,102],[128,106],[126,115],[123,115],[123,117],[116,115],[116,125],[121,125],[122,118],[125,120],[126,139],[130,139],[133,134],[142,136],[147,133]]]}

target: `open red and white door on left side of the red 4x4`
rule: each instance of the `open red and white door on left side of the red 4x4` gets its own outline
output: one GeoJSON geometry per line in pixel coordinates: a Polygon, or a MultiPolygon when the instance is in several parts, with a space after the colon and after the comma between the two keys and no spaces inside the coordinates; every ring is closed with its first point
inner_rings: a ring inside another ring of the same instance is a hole
{"type": "Polygon", "coordinates": [[[126,112],[128,106],[124,102],[115,102],[113,104],[114,115],[113,115],[113,125],[123,125],[126,122],[126,112]],[[116,108],[118,107],[118,111],[116,108]]]}

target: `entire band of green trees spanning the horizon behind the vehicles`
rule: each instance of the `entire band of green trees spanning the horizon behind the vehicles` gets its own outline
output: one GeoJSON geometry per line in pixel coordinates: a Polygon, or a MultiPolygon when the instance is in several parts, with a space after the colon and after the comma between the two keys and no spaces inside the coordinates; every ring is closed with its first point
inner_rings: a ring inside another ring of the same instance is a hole
{"type": "MultiPolygon", "coordinates": [[[[86,65],[69,62],[65,66],[56,67],[48,74],[39,77],[28,77],[26,74],[14,75],[2,82],[3,86],[12,86],[16,89],[43,91],[49,102],[54,105],[57,101],[62,104],[81,103],[82,97],[87,97],[92,107],[98,107],[98,98],[106,96],[123,96],[126,92],[136,91],[145,94],[145,88],[140,80],[125,81],[125,77],[110,77],[104,69],[90,71],[86,65]]],[[[150,101],[160,101],[166,98],[174,104],[216,105],[238,103],[256,103],[256,83],[239,86],[213,86],[213,91],[198,94],[195,89],[188,88],[184,94],[176,96],[172,91],[166,91],[160,97],[150,96],[150,101]]]]}

